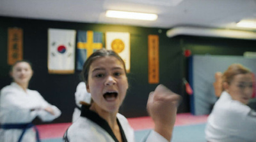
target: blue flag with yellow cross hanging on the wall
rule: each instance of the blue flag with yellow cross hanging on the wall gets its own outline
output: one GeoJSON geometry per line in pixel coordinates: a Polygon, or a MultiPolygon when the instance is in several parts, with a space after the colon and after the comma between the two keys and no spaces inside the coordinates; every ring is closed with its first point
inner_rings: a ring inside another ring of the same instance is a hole
{"type": "Polygon", "coordinates": [[[77,70],[82,70],[85,60],[102,48],[102,35],[102,32],[77,31],[77,70]]]}

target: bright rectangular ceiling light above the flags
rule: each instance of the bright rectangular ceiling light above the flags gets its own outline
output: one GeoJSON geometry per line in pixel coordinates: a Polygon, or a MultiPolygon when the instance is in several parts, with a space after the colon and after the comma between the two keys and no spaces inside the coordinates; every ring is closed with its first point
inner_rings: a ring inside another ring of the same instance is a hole
{"type": "Polygon", "coordinates": [[[115,11],[115,10],[108,10],[106,12],[106,17],[112,18],[129,18],[129,19],[136,19],[136,20],[156,20],[156,14],[150,13],[138,13],[138,12],[129,12],[129,11],[115,11]]]}

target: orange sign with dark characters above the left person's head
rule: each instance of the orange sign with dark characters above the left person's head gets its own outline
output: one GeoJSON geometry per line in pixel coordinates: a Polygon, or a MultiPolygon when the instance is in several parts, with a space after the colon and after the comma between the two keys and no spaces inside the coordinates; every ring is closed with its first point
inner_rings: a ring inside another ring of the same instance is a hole
{"type": "Polygon", "coordinates": [[[20,28],[8,28],[8,59],[9,65],[23,59],[23,31],[20,28]]]}

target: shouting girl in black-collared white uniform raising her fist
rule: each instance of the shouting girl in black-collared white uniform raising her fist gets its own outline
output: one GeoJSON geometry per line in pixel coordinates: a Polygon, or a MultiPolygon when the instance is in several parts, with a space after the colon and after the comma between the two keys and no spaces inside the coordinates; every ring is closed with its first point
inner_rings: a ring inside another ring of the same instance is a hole
{"type": "MultiPolygon", "coordinates": [[[[92,103],[82,106],[81,117],[68,128],[63,140],[134,142],[132,127],[118,113],[128,89],[124,60],[112,50],[97,50],[84,63],[83,77],[92,103]]],[[[171,141],[179,101],[180,96],[164,85],[150,93],[147,109],[155,127],[145,141],[171,141]]]]}

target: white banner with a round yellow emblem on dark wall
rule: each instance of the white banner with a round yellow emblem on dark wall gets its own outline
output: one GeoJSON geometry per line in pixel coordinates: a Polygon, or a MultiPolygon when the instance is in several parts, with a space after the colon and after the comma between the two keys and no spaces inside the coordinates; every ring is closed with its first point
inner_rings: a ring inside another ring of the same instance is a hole
{"type": "Polygon", "coordinates": [[[131,68],[131,55],[130,55],[130,33],[129,32],[106,32],[106,48],[113,50],[125,62],[127,73],[131,68]]]}

